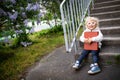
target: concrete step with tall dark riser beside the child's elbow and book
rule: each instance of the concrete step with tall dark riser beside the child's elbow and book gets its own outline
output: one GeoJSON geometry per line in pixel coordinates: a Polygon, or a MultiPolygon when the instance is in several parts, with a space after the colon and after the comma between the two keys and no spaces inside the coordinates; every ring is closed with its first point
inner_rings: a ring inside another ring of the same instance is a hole
{"type": "Polygon", "coordinates": [[[101,48],[102,55],[120,55],[120,36],[115,36],[104,36],[101,48]]]}

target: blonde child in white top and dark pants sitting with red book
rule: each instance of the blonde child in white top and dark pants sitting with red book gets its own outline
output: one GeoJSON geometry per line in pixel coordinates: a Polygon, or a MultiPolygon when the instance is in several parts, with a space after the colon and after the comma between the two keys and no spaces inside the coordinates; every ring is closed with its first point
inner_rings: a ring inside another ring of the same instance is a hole
{"type": "Polygon", "coordinates": [[[75,64],[73,65],[74,69],[78,69],[81,66],[81,63],[83,59],[89,54],[92,54],[93,63],[90,65],[90,70],[88,71],[88,74],[95,74],[100,72],[100,68],[98,65],[98,54],[101,48],[101,41],[103,39],[103,34],[101,33],[99,29],[99,20],[95,17],[87,17],[85,20],[85,27],[86,29],[83,31],[82,35],[80,36],[80,41],[83,43],[92,43],[92,42],[98,42],[98,50],[86,50],[83,49],[81,55],[76,60],[75,64]],[[84,33],[85,32],[98,32],[98,35],[96,37],[92,38],[85,38],[84,33]]]}

